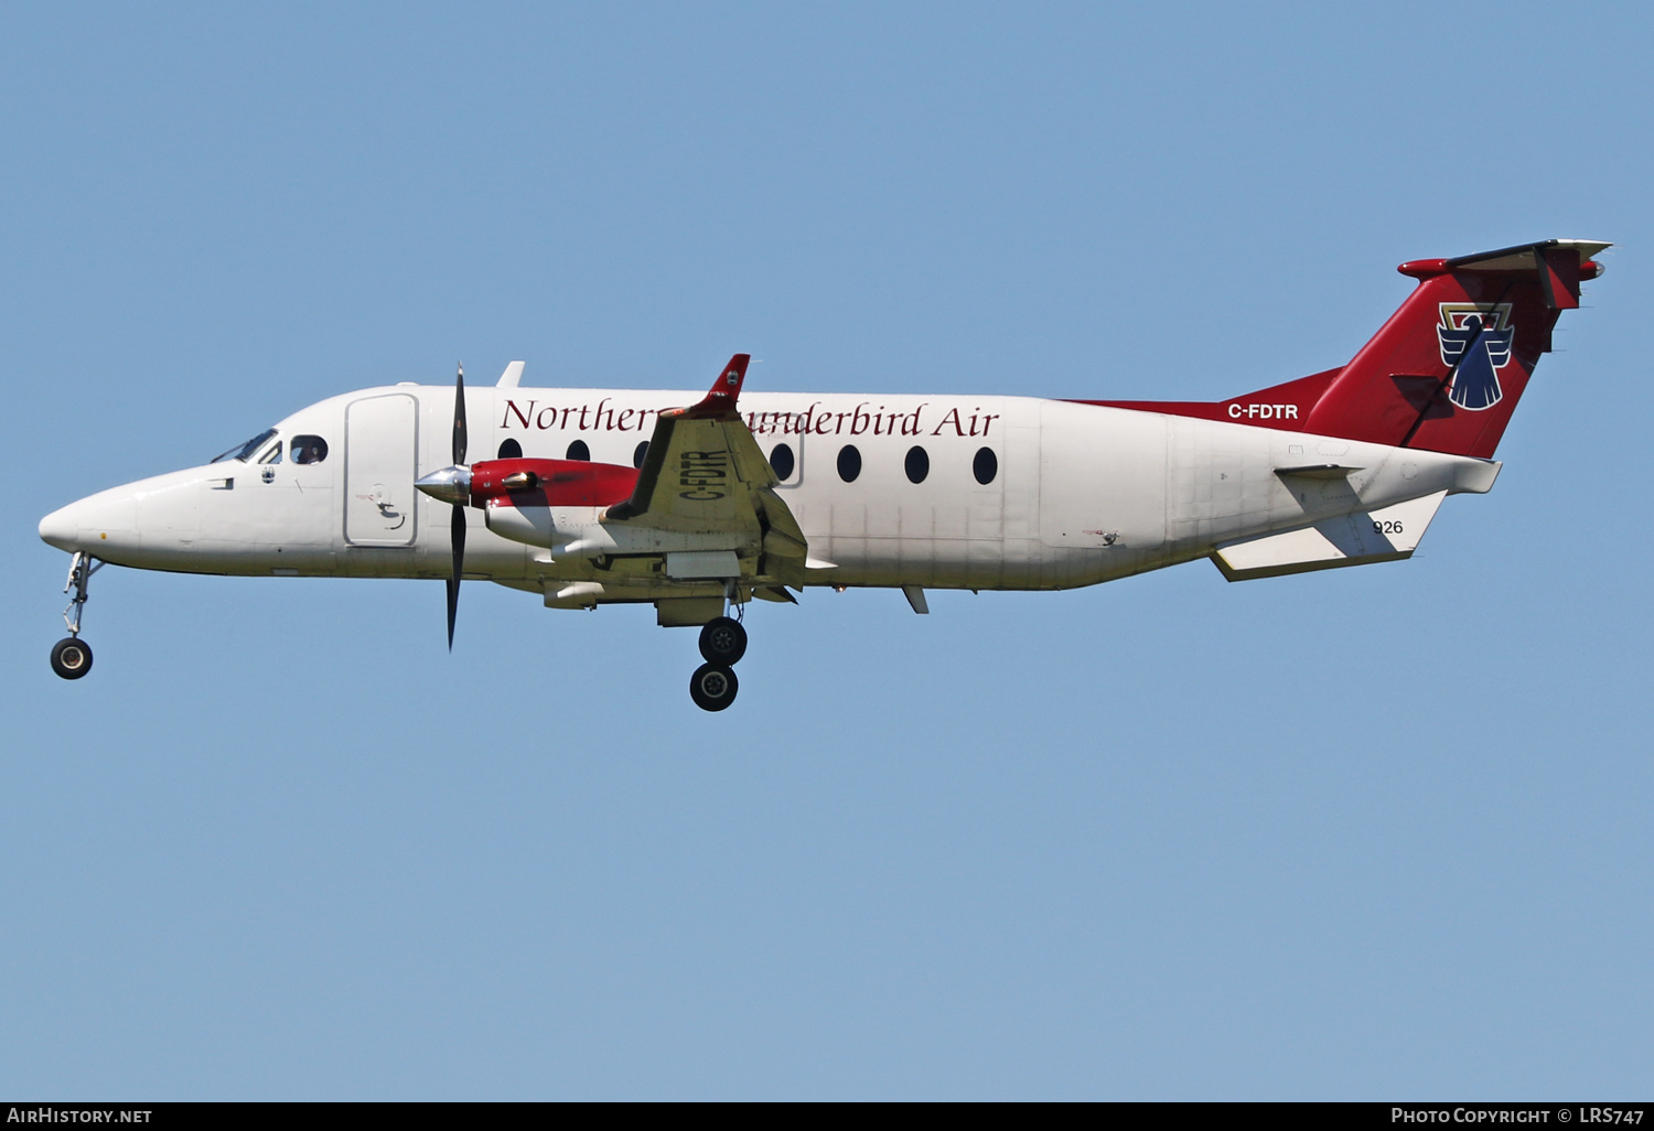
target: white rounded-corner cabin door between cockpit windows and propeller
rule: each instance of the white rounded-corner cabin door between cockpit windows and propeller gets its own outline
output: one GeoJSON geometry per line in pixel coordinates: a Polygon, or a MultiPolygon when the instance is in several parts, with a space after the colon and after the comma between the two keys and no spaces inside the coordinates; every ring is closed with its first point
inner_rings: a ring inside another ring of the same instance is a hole
{"type": "Polygon", "coordinates": [[[412,546],[418,403],[407,394],[354,400],[344,433],[344,541],[412,546]]]}

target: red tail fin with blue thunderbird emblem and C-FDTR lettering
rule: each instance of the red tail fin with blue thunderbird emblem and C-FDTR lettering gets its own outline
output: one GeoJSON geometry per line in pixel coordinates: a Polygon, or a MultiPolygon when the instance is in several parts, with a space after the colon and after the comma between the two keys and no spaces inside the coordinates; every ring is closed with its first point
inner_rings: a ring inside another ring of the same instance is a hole
{"type": "Polygon", "coordinates": [[[1348,365],[1217,403],[1093,402],[1489,458],[1560,311],[1609,245],[1546,240],[1403,263],[1419,286],[1348,365]]]}

